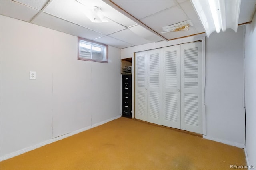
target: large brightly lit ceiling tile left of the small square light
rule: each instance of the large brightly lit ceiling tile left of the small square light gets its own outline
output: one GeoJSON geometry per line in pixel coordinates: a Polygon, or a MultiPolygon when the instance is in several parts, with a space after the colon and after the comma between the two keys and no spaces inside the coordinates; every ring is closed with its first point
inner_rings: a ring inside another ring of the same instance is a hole
{"type": "MultiPolygon", "coordinates": [[[[77,1],[52,1],[44,12],[68,20],[88,29],[100,32],[102,34],[111,34],[126,27],[117,24],[111,20],[105,23],[93,23],[85,15],[86,7],[77,1]]],[[[102,11],[103,12],[103,11],[102,11]]]]}

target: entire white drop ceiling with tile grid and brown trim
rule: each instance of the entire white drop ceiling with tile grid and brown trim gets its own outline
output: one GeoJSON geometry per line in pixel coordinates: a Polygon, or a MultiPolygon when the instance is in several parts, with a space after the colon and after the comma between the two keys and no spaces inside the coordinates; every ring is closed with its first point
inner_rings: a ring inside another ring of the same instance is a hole
{"type": "MultiPolygon", "coordinates": [[[[248,23],[256,0],[242,0],[238,24],[248,23]]],[[[126,48],[204,32],[190,0],[0,0],[1,15],[46,28],[126,48]],[[88,7],[100,7],[108,20],[92,23],[88,7]],[[163,32],[162,27],[192,20],[188,30],[163,32]]]]}

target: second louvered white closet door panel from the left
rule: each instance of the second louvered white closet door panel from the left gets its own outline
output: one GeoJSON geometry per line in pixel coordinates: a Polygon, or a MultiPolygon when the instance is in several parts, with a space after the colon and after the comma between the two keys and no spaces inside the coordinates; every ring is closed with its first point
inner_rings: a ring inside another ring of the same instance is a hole
{"type": "Polygon", "coordinates": [[[162,124],[162,49],[147,51],[148,122],[162,124]]]}

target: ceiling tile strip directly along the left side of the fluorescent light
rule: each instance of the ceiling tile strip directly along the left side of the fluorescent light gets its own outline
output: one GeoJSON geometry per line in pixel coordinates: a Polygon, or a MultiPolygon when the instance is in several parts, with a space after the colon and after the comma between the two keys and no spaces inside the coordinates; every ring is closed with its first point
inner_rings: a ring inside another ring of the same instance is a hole
{"type": "Polygon", "coordinates": [[[194,24],[194,28],[197,30],[198,33],[204,32],[204,27],[202,26],[196,11],[194,10],[194,7],[190,1],[185,1],[182,4],[180,4],[180,7],[183,9],[183,11],[186,13],[188,18],[192,20],[192,23],[194,24]]]}

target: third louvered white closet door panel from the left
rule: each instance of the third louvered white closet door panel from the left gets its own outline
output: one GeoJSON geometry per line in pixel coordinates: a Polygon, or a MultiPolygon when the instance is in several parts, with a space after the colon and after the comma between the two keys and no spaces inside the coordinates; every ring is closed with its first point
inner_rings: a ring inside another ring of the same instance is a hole
{"type": "Polygon", "coordinates": [[[162,49],[162,125],[180,129],[180,45],[162,49]]]}

